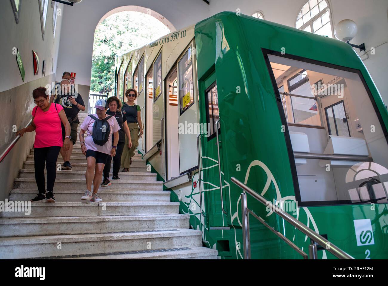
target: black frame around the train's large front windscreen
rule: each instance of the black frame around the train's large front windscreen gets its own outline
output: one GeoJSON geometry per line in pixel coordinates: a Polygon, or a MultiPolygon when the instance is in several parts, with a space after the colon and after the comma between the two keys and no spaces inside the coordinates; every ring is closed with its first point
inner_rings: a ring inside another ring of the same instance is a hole
{"type": "MultiPolygon", "coordinates": [[[[268,55],[278,56],[279,58],[288,58],[290,60],[296,60],[296,61],[300,61],[300,62],[303,62],[303,63],[310,63],[310,64],[318,65],[318,66],[321,66],[321,67],[334,68],[334,69],[337,69],[337,70],[341,70],[341,71],[351,72],[351,73],[357,74],[359,76],[360,82],[362,83],[362,85],[365,88],[365,92],[367,93],[367,95],[369,97],[369,100],[371,102],[372,108],[373,108],[373,110],[374,110],[374,112],[376,114],[376,117],[378,118],[378,122],[379,122],[379,124],[380,124],[380,126],[381,126],[381,128],[383,130],[383,134],[384,134],[386,142],[388,144],[387,126],[385,125],[385,123],[383,121],[383,118],[381,117],[381,114],[379,112],[379,109],[378,109],[378,106],[376,104],[376,101],[374,100],[374,97],[373,97],[373,95],[371,93],[371,90],[369,89],[369,86],[367,85],[367,83],[365,81],[364,76],[362,75],[362,72],[360,70],[358,70],[358,69],[355,69],[355,68],[344,67],[344,66],[340,66],[340,65],[334,65],[332,63],[327,63],[327,62],[324,62],[324,61],[313,60],[313,59],[310,59],[310,58],[296,56],[296,55],[293,55],[293,54],[286,54],[286,55],[284,55],[284,54],[281,54],[278,51],[273,51],[273,50],[270,50],[270,49],[265,49],[265,48],[261,48],[261,49],[262,49],[262,53],[263,53],[263,57],[264,57],[265,63],[267,65],[268,74],[269,74],[270,80],[272,82],[272,88],[274,90],[274,95],[275,95],[275,98],[276,98],[277,107],[278,107],[278,111],[279,111],[280,118],[281,118],[281,123],[286,128],[286,130],[285,130],[285,132],[283,134],[284,134],[284,138],[285,138],[286,146],[287,146],[289,164],[290,164],[290,169],[291,169],[291,176],[292,176],[292,180],[293,180],[295,200],[298,202],[299,207],[322,207],[322,206],[330,206],[330,205],[365,205],[365,202],[363,202],[363,201],[352,202],[351,199],[350,200],[315,200],[315,201],[302,201],[301,200],[301,192],[300,192],[300,187],[299,187],[299,182],[298,182],[298,173],[296,171],[296,163],[295,163],[295,158],[294,158],[294,154],[293,154],[293,147],[291,145],[291,138],[290,138],[290,135],[289,135],[289,130],[288,130],[288,125],[287,125],[286,117],[284,115],[283,107],[282,107],[282,104],[281,104],[281,97],[280,97],[280,94],[279,94],[278,85],[277,85],[277,82],[275,80],[275,76],[274,76],[274,73],[272,71],[272,67],[271,67],[268,55]]],[[[379,203],[379,202],[374,202],[374,203],[376,203],[376,204],[386,204],[386,203],[379,203]]]]}

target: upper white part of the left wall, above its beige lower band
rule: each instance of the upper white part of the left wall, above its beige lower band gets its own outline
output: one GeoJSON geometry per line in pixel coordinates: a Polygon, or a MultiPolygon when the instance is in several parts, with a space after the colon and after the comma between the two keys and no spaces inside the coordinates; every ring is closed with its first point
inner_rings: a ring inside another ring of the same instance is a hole
{"type": "MultiPolygon", "coordinates": [[[[59,4],[58,8],[63,10],[63,6],[63,4],[59,4]]],[[[9,0],[0,2],[0,39],[2,41],[0,45],[0,54],[2,55],[0,61],[0,92],[43,77],[43,60],[45,60],[46,75],[55,73],[62,16],[57,17],[55,38],[53,39],[53,8],[51,8],[49,3],[45,39],[42,40],[42,28],[39,15],[40,10],[38,1],[21,1],[19,23],[16,24],[11,2],[9,0]],[[16,63],[16,55],[12,54],[13,47],[19,48],[24,70],[26,71],[24,82],[16,63]],[[33,50],[37,51],[39,56],[38,75],[33,74],[33,50]],[[51,65],[51,59],[53,65],[51,65]]]]}

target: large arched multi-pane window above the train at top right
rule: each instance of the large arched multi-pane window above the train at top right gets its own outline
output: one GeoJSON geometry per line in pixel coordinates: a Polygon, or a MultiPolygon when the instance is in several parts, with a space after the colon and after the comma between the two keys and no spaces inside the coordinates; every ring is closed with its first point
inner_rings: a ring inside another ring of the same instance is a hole
{"type": "Polygon", "coordinates": [[[326,0],[309,0],[296,19],[296,28],[333,38],[330,6],[326,0]]]}

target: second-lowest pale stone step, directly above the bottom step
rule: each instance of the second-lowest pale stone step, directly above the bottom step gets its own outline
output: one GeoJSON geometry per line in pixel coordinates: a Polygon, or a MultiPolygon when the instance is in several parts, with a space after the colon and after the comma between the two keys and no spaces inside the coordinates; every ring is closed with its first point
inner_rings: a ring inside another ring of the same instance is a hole
{"type": "Polygon", "coordinates": [[[202,246],[202,232],[191,229],[2,237],[0,258],[18,259],[199,246],[202,246]]]}

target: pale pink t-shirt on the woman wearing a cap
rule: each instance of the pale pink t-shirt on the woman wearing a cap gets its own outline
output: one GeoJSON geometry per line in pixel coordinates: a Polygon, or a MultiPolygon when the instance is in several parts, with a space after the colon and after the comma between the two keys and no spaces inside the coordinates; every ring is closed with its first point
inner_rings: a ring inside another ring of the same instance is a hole
{"type": "MultiPolygon", "coordinates": [[[[92,114],[96,118],[98,118],[97,114],[92,114]]],[[[106,115],[106,117],[109,115],[106,115]]],[[[104,146],[100,146],[94,143],[93,141],[93,125],[95,120],[91,118],[90,116],[87,116],[84,121],[81,124],[81,129],[86,131],[87,137],[85,137],[85,145],[87,150],[94,150],[97,152],[105,153],[105,154],[111,154],[112,150],[112,134],[114,132],[117,132],[120,130],[120,126],[117,122],[117,119],[112,116],[108,120],[109,126],[111,127],[111,132],[109,133],[109,139],[108,141],[104,144],[104,146]]]]}

